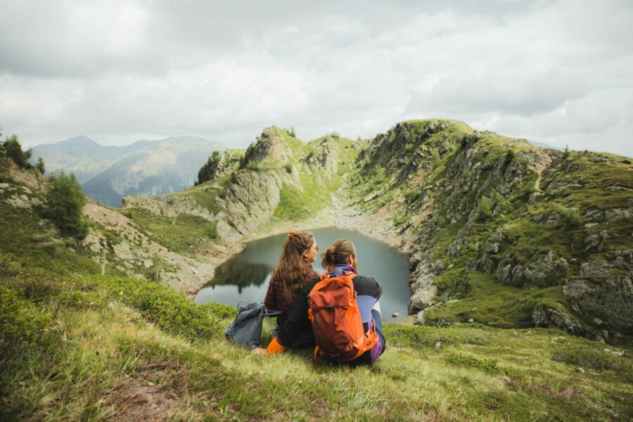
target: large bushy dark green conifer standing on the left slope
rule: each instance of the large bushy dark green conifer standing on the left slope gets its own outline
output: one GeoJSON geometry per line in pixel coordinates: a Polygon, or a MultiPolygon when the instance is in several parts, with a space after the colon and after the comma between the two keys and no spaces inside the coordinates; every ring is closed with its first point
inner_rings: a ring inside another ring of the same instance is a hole
{"type": "Polygon", "coordinates": [[[41,215],[50,219],[63,236],[82,239],[88,234],[87,224],[82,217],[86,197],[79,186],[75,174],[66,176],[63,172],[50,179],[51,190],[46,193],[46,203],[41,215]]]}

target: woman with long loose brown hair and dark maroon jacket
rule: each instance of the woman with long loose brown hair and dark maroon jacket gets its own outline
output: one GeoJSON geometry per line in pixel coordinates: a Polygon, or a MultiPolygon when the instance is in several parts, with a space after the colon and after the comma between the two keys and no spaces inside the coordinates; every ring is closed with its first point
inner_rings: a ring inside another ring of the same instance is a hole
{"type": "MultiPolygon", "coordinates": [[[[309,231],[290,231],[283,242],[279,262],[273,271],[264,299],[264,305],[268,309],[282,312],[277,316],[278,327],[286,324],[288,314],[293,309],[300,290],[312,281],[319,280],[319,274],[316,274],[311,265],[316,261],[317,252],[319,252],[319,246],[316,245],[314,235],[309,231]]],[[[311,329],[302,333],[293,345],[310,343],[314,345],[311,329]]]]}

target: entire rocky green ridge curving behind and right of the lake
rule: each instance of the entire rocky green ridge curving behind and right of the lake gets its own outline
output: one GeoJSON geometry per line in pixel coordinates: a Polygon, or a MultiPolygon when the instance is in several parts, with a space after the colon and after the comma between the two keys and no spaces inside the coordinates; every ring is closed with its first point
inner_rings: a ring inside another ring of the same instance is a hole
{"type": "Polygon", "coordinates": [[[387,241],[411,256],[418,324],[632,334],[627,158],[538,148],[454,120],[402,122],[369,143],[301,143],[271,127],[244,155],[223,157],[214,181],[125,205],[206,213],[228,240],[312,217],[387,241]]]}

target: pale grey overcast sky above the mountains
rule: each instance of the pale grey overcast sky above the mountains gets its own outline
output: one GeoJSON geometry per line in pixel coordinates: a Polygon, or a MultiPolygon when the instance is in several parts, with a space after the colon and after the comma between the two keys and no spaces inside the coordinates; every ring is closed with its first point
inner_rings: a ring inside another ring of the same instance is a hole
{"type": "Polygon", "coordinates": [[[633,156],[633,1],[0,0],[0,127],[26,146],[412,118],[633,156]]]}

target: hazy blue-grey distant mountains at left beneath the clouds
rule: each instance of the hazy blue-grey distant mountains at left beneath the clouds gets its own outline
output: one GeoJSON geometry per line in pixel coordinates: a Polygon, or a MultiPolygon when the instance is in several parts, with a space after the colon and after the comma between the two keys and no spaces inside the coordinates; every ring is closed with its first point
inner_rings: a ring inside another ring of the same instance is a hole
{"type": "Polygon", "coordinates": [[[158,195],[183,191],[222,143],[198,136],[136,141],[128,146],[102,146],[87,136],[33,148],[32,160],[44,159],[49,173],[74,173],[84,193],[100,203],[119,207],[126,195],[158,195]]]}

